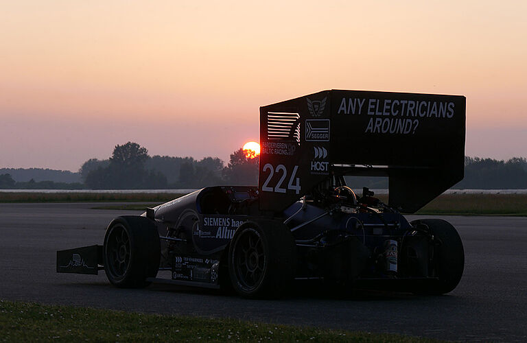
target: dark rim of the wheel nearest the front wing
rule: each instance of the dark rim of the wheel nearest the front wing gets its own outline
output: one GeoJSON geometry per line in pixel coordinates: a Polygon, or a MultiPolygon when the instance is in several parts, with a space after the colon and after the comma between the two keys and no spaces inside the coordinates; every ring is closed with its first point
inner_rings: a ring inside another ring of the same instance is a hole
{"type": "Polygon", "coordinates": [[[110,273],[115,279],[122,278],[130,264],[130,237],[124,226],[113,226],[108,234],[106,257],[110,273]]]}

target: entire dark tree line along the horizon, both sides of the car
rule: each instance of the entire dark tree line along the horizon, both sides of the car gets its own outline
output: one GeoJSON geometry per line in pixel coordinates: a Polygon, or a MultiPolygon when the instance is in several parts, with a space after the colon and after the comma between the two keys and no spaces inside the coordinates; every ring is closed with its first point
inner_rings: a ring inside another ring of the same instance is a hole
{"type": "MultiPolygon", "coordinates": [[[[112,156],[91,158],[82,164],[82,182],[30,180],[16,182],[0,174],[0,189],[197,189],[212,185],[257,185],[258,158],[240,148],[224,164],[220,158],[150,156],[133,142],[116,145],[112,156]]],[[[351,187],[388,188],[387,178],[347,177],[351,187]]],[[[454,189],[527,189],[526,158],[498,161],[465,157],[465,178],[454,189]]]]}

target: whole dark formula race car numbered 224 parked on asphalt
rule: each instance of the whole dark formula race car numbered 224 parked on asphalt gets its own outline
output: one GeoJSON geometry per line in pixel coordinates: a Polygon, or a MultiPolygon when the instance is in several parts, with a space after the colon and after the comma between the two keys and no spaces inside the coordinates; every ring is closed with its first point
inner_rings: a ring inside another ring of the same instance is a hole
{"type": "Polygon", "coordinates": [[[260,108],[258,187],[194,191],[110,222],[57,272],[279,296],[294,279],[445,294],[465,263],[456,229],[414,213],[462,180],[465,97],[322,91],[260,108]],[[344,176],[387,176],[384,204],[344,176]],[[162,278],[161,274],[166,277],[162,278]],[[159,277],[158,277],[159,276],[159,277]]]}

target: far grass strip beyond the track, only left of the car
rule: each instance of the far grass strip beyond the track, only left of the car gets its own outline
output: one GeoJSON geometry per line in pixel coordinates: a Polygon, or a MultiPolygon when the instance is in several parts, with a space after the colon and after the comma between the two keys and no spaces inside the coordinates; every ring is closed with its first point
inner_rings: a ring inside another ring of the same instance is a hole
{"type": "Polygon", "coordinates": [[[0,202],[157,202],[184,196],[182,193],[21,193],[0,192],[0,202]]]}

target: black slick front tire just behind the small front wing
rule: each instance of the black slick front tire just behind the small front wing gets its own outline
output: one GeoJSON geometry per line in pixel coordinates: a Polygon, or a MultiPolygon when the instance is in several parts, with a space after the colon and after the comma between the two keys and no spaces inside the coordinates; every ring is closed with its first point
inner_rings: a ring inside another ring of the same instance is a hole
{"type": "Polygon", "coordinates": [[[159,270],[161,246],[152,220],[125,215],[110,222],[104,236],[104,270],[117,287],[137,288],[150,284],[159,270]]]}

